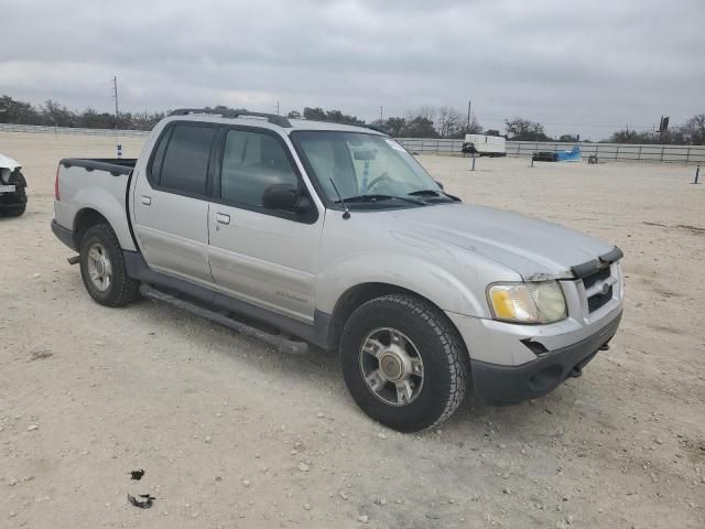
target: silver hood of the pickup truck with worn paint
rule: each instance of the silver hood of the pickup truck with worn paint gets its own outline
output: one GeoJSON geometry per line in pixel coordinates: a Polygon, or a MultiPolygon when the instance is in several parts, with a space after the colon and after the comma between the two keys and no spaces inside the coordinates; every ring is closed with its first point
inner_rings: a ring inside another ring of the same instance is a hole
{"type": "Polygon", "coordinates": [[[391,230],[481,255],[524,281],[573,278],[571,267],[614,248],[579,231],[491,207],[447,204],[389,213],[391,230]]]}

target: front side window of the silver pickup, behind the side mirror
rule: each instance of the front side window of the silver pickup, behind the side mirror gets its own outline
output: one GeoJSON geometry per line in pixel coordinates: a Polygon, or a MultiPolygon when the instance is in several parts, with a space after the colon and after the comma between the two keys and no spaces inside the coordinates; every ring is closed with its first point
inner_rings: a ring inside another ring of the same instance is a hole
{"type": "Polygon", "coordinates": [[[297,187],[299,180],[282,144],[272,136],[230,130],[226,136],[220,197],[262,207],[264,191],[276,184],[297,187]]]}

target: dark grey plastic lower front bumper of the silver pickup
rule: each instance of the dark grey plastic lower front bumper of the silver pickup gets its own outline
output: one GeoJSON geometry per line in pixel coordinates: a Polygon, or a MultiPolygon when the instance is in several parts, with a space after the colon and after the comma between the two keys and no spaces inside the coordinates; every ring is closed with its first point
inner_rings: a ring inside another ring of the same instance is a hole
{"type": "Polygon", "coordinates": [[[607,344],[619,326],[621,310],[595,334],[550,350],[520,366],[501,366],[470,358],[475,393],[489,404],[512,404],[542,397],[582,369],[607,344]]]}

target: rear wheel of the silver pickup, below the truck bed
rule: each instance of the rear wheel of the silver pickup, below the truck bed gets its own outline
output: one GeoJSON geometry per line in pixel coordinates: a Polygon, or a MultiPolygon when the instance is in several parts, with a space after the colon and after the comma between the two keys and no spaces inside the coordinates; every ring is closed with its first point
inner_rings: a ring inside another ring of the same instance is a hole
{"type": "Polygon", "coordinates": [[[140,282],[128,277],[122,248],[109,225],[99,224],[88,228],[80,240],[79,253],[80,277],[84,285],[98,303],[106,306],[122,306],[138,296],[140,282]],[[94,250],[96,253],[91,255],[94,250]],[[94,259],[91,256],[99,259],[94,259]],[[96,277],[102,279],[95,279],[96,277]]]}

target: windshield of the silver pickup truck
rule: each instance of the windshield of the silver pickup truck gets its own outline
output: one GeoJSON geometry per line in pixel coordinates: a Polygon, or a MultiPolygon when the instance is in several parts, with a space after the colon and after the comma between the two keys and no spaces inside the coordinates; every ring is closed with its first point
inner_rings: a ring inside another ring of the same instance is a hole
{"type": "Polygon", "coordinates": [[[417,196],[409,196],[417,192],[447,201],[421,164],[390,138],[336,131],[296,131],[292,136],[330,202],[424,205],[417,196]]]}

